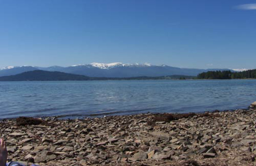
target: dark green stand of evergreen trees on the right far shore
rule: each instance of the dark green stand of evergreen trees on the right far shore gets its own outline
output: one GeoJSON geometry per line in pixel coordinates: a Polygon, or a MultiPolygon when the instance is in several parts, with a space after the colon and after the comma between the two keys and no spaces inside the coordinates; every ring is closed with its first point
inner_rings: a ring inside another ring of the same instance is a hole
{"type": "Polygon", "coordinates": [[[202,72],[197,75],[198,79],[256,79],[256,69],[243,72],[215,71],[202,72]]]}

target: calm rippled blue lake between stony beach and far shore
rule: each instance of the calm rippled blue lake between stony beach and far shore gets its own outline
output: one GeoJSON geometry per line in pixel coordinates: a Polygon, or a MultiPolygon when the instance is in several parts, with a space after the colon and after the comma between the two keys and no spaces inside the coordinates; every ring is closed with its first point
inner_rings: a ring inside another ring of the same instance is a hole
{"type": "Polygon", "coordinates": [[[0,118],[245,109],[256,80],[0,82],[0,118]]]}

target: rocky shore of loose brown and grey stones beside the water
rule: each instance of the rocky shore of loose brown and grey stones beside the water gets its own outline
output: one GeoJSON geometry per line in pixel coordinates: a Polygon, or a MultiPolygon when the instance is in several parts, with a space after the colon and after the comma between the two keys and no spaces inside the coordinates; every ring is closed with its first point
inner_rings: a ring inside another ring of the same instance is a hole
{"type": "Polygon", "coordinates": [[[253,166],[256,103],[201,114],[4,119],[8,161],[25,164],[253,166]]]}

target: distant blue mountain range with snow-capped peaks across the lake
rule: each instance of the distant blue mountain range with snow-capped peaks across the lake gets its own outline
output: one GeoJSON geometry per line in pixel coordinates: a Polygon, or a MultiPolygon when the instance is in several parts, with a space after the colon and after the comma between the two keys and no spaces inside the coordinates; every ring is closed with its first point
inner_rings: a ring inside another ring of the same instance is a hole
{"type": "Polygon", "coordinates": [[[92,63],[92,64],[79,64],[68,67],[51,66],[51,67],[38,67],[38,66],[8,66],[0,69],[1,76],[10,76],[29,72],[34,70],[43,70],[51,72],[65,72],[71,74],[84,75],[88,77],[158,77],[167,75],[187,75],[197,76],[197,74],[208,71],[224,71],[232,69],[188,69],[178,68],[167,65],[151,65],[151,64],[123,64],[123,63],[92,63]]]}

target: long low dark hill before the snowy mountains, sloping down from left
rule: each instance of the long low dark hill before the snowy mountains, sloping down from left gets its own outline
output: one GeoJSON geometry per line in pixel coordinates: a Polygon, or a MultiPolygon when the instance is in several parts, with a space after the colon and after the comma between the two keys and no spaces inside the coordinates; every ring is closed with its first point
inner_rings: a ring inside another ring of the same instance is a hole
{"type": "Polygon", "coordinates": [[[106,77],[87,77],[84,75],[69,74],[64,72],[48,72],[34,70],[23,72],[12,76],[0,77],[0,81],[67,81],[67,80],[147,80],[147,79],[194,79],[194,76],[170,75],[161,77],[130,77],[130,78],[106,78],[106,77]]]}

